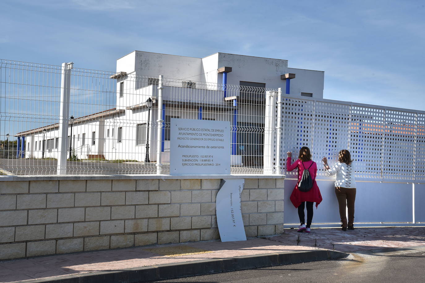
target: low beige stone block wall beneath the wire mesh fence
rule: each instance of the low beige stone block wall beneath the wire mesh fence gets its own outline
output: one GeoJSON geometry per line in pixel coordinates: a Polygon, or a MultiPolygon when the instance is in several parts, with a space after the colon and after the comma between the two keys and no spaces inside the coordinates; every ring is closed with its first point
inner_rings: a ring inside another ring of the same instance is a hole
{"type": "MultiPolygon", "coordinates": [[[[219,239],[220,181],[0,181],[0,259],[219,239]]],[[[247,236],[281,233],[283,179],[246,179],[242,216],[247,236]]]]}

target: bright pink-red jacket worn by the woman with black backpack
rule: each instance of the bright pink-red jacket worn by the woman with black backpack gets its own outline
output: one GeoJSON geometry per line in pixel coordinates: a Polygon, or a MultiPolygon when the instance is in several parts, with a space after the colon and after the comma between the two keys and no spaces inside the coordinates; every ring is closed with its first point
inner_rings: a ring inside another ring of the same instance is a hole
{"type": "Polygon", "coordinates": [[[295,185],[294,191],[292,191],[291,194],[291,202],[292,204],[297,208],[301,205],[301,202],[315,202],[316,208],[322,202],[322,195],[320,194],[319,187],[317,187],[316,183],[316,174],[317,174],[317,165],[314,161],[306,161],[303,162],[306,168],[309,168],[310,176],[313,178],[313,187],[308,192],[302,192],[298,190],[298,183],[301,180],[301,177],[303,176],[304,167],[301,163],[301,160],[297,159],[297,161],[294,162],[294,164],[291,165],[291,157],[288,157],[286,160],[286,170],[292,171],[295,168],[298,168],[298,182],[297,185],[295,185]],[[313,164],[312,164],[313,163],[313,164]]]}

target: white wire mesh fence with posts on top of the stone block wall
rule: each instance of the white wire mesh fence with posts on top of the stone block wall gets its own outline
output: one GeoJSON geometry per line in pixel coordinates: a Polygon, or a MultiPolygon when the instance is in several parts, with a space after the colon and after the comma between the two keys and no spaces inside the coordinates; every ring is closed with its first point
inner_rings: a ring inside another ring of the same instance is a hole
{"type": "Polygon", "coordinates": [[[229,121],[231,173],[262,174],[264,132],[276,133],[266,92],[277,90],[0,60],[0,170],[169,174],[170,120],[185,118],[229,121]]]}

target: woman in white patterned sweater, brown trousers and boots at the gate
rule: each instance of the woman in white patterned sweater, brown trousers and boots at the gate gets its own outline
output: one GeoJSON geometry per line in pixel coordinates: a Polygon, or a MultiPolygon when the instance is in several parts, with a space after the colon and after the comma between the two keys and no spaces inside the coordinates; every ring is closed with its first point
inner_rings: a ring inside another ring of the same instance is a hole
{"type": "Polygon", "coordinates": [[[342,230],[354,230],[354,202],[356,200],[356,179],[354,179],[353,160],[350,151],[343,149],[338,154],[338,162],[329,168],[328,160],[323,157],[323,164],[329,176],[336,174],[335,194],[340,207],[342,230]],[[348,224],[346,216],[348,207],[348,224]]]}

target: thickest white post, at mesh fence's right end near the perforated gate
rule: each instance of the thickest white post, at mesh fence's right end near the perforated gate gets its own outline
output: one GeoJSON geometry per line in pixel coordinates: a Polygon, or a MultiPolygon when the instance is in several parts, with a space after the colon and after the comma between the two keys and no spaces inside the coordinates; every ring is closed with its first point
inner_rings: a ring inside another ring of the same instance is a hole
{"type": "Polygon", "coordinates": [[[263,174],[273,174],[274,137],[276,128],[276,92],[266,91],[266,111],[264,115],[264,168],[263,174]]]}

